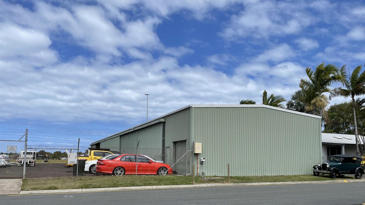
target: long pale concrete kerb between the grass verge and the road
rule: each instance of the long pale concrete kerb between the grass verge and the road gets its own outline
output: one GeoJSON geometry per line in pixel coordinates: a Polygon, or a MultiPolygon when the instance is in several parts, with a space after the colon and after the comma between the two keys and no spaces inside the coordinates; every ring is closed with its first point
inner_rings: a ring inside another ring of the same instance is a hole
{"type": "MultiPolygon", "coordinates": [[[[365,179],[349,179],[346,180],[346,182],[365,182],[365,179]]],[[[82,193],[82,192],[142,190],[142,189],[176,189],[176,188],[215,187],[215,186],[264,186],[264,185],[346,183],[346,182],[344,180],[331,180],[331,181],[302,181],[302,182],[206,183],[206,184],[195,184],[195,185],[129,186],[129,187],[92,188],[92,189],[34,190],[34,191],[21,191],[19,194],[82,193]]]]}

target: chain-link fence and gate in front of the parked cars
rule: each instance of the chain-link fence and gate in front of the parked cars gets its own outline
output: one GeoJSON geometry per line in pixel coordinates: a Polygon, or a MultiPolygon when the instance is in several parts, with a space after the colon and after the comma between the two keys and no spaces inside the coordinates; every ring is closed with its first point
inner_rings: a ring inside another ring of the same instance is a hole
{"type": "MultiPolygon", "coordinates": [[[[89,146],[63,144],[27,144],[25,142],[0,140],[0,178],[71,177],[78,175],[191,175],[192,150],[185,147],[147,148],[89,146]],[[10,151],[11,152],[10,152],[10,151]],[[76,166],[78,158],[79,166],[76,166]],[[77,168],[78,167],[78,168],[77,168]],[[77,169],[80,169],[77,171],[77,169]]],[[[154,147],[153,144],[149,144],[154,147]]],[[[161,147],[161,146],[160,146],[161,147]]]]}

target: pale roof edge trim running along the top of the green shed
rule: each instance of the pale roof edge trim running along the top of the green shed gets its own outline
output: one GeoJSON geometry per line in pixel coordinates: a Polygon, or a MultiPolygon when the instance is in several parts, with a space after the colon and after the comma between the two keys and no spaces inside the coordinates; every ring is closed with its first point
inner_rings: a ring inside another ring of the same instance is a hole
{"type": "Polygon", "coordinates": [[[187,105],[185,107],[182,107],[180,109],[177,109],[175,111],[169,112],[169,113],[167,113],[165,115],[162,115],[160,117],[156,117],[155,119],[149,120],[149,121],[147,121],[145,123],[139,124],[139,125],[134,126],[132,128],[123,130],[122,132],[118,132],[116,134],[110,135],[110,136],[108,136],[108,137],[106,137],[104,139],[101,139],[101,140],[98,140],[96,142],[93,142],[90,145],[97,144],[99,142],[103,142],[104,140],[107,140],[107,139],[110,139],[110,138],[114,138],[116,136],[123,135],[123,134],[126,134],[128,132],[135,131],[136,129],[139,129],[139,128],[142,128],[142,127],[149,126],[151,124],[156,123],[156,122],[154,122],[156,120],[160,120],[163,117],[166,117],[168,115],[172,115],[173,113],[182,111],[182,110],[187,109],[187,108],[190,108],[190,107],[192,107],[192,108],[223,108],[223,107],[230,107],[230,108],[235,108],[235,107],[269,108],[269,109],[274,109],[274,110],[279,110],[279,111],[284,111],[284,112],[290,112],[290,113],[294,113],[294,114],[297,114],[297,115],[304,115],[304,116],[314,117],[314,118],[319,118],[320,119],[320,116],[317,116],[317,115],[311,115],[311,114],[307,114],[307,113],[303,113],[303,112],[297,112],[297,111],[292,111],[292,110],[288,110],[288,109],[284,109],[284,108],[277,108],[277,107],[273,107],[273,106],[269,106],[269,105],[261,105],[261,104],[256,104],[256,105],[240,105],[240,104],[191,104],[191,105],[187,105]]]}

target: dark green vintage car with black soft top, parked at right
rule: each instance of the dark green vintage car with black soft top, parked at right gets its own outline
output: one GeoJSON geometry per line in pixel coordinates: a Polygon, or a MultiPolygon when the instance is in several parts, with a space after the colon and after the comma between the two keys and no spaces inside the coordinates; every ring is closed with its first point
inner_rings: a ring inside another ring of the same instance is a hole
{"type": "Polygon", "coordinates": [[[361,156],[354,155],[332,155],[328,160],[319,165],[313,166],[313,175],[320,173],[329,174],[331,179],[336,178],[336,174],[342,177],[345,174],[354,174],[355,178],[361,179],[364,169],[360,167],[361,156]]]}

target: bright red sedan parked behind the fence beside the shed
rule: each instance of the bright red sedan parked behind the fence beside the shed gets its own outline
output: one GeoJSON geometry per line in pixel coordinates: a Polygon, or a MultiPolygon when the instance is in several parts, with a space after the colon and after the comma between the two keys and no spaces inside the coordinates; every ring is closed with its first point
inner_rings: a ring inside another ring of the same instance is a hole
{"type": "Polygon", "coordinates": [[[98,159],[96,162],[96,172],[116,176],[135,174],[136,169],[137,174],[172,174],[170,165],[154,162],[142,155],[122,154],[115,156],[115,158],[98,159]]]}

